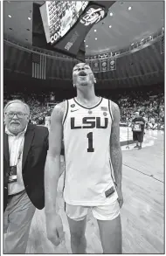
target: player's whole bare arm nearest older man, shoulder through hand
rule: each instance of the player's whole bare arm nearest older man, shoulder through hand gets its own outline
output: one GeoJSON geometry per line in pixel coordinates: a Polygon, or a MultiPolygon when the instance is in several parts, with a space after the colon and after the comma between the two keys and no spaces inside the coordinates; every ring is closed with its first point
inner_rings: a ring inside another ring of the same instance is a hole
{"type": "Polygon", "coordinates": [[[57,186],[60,176],[60,151],[62,143],[62,120],[65,102],[54,107],[49,133],[49,150],[45,163],[45,220],[47,237],[55,246],[63,239],[63,225],[56,209],[57,186]]]}

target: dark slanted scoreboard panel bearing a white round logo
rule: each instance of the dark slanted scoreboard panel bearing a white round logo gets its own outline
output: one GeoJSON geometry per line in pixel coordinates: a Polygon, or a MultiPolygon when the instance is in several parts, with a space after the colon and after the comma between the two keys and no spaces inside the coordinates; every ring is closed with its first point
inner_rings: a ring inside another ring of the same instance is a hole
{"type": "Polygon", "coordinates": [[[79,20],[58,42],[51,42],[52,47],[73,58],[77,57],[80,45],[86,38],[86,34],[91,30],[93,24],[97,24],[107,17],[107,11],[116,1],[90,1],[79,20]]]}

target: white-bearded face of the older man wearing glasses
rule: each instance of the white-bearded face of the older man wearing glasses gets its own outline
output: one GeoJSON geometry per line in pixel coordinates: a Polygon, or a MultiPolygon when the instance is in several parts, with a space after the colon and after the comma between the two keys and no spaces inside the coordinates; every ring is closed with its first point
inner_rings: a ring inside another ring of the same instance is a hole
{"type": "Polygon", "coordinates": [[[9,129],[10,133],[14,135],[24,130],[29,119],[30,117],[24,104],[11,103],[5,110],[4,121],[6,127],[9,129]]]}

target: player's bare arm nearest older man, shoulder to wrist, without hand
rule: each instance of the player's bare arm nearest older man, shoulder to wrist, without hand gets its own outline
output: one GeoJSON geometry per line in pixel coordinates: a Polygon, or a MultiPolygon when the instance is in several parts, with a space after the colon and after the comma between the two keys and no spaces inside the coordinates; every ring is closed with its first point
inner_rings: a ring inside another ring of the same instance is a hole
{"type": "Polygon", "coordinates": [[[49,150],[45,163],[45,213],[56,212],[57,184],[60,174],[60,151],[62,143],[62,120],[65,102],[54,107],[49,133],[49,150]]]}

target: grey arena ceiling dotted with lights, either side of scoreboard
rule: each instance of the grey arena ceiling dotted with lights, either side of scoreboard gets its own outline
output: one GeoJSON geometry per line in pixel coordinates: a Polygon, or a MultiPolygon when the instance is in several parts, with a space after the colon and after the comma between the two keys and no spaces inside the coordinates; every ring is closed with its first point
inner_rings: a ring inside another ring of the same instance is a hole
{"type": "MultiPolygon", "coordinates": [[[[12,38],[23,45],[32,44],[32,3],[3,2],[4,38],[12,38]]],[[[86,54],[118,51],[142,38],[148,38],[162,29],[163,25],[164,1],[117,1],[110,8],[107,17],[95,24],[87,34],[86,54]]]]}

